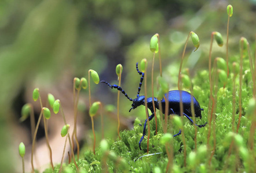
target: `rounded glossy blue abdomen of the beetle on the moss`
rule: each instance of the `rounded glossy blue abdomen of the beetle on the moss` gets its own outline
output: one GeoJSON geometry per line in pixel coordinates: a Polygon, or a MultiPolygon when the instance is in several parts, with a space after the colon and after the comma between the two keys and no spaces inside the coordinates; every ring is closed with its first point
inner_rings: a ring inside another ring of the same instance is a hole
{"type": "MultiPolygon", "coordinates": [[[[179,91],[179,90],[173,90],[173,91],[169,91],[169,94],[167,96],[167,93],[165,94],[165,97],[168,97],[169,100],[169,115],[173,114],[177,114],[180,115],[180,92],[181,92],[181,97],[182,97],[182,103],[183,103],[183,112],[188,115],[188,116],[192,116],[192,112],[191,112],[191,94],[189,92],[186,91],[179,91]],[[171,111],[171,109],[173,111],[171,111]]],[[[195,116],[196,117],[202,117],[201,115],[201,107],[199,105],[198,100],[196,100],[196,98],[194,96],[192,96],[193,99],[193,105],[195,108],[195,116]]],[[[163,108],[163,113],[165,112],[165,100],[164,98],[161,100],[162,103],[162,108],[163,108]]]]}

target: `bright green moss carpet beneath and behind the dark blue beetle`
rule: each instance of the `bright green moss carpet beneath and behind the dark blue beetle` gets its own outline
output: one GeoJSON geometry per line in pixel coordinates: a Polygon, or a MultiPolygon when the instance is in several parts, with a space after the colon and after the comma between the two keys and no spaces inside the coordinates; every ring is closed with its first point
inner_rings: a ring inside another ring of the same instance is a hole
{"type": "MultiPolygon", "coordinates": [[[[232,57],[232,61],[239,61],[238,57],[232,57]]],[[[243,85],[242,85],[242,119],[238,134],[232,133],[236,130],[239,118],[239,75],[235,78],[236,83],[236,106],[235,106],[235,125],[232,126],[232,89],[233,73],[229,74],[228,82],[223,88],[223,84],[218,82],[216,118],[211,122],[211,135],[209,146],[207,147],[207,136],[209,133],[209,124],[205,127],[197,128],[195,149],[195,128],[184,117],[184,136],[186,145],[186,166],[184,163],[184,144],[182,136],[174,137],[168,148],[173,151],[173,164],[170,168],[174,172],[254,172],[255,168],[255,136],[254,149],[251,151],[248,147],[250,136],[251,120],[255,115],[248,115],[248,101],[253,97],[253,82],[248,72],[250,69],[248,59],[243,59],[243,85]],[[215,128],[213,127],[215,125],[215,128]],[[215,133],[215,134],[214,134],[215,133]],[[214,148],[215,138],[215,151],[214,148]],[[233,144],[232,144],[233,143],[233,144]],[[230,149],[231,144],[232,149],[230,149]],[[211,153],[213,153],[211,157],[211,153]],[[230,153],[230,155],[229,155],[230,153]],[[210,161],[211,159],[211,161],[210,161]]],[[[250,71],[249,71],[250,72],[250,71]]],[[[202,119],[196,118],[196,123],[201,125],[209,122],[208,104],[210,97],[209,73],[206,70],[199,71],[193,78],[193,95],[198,99],[204,109],[202,119]]],[[[173,116],[173,115],[170,115],[173,116]]],[[[170,117],[169,116],[169,117],[170,117]]],[[[92,151],[86,150],[82,153],[81,159],[77,161],[80,172],[165,172],[168,157],[166,147],[160,143],[163,136],[163,127],[160,122],[158,111],[158,134],[155,135],[155,121],[150,122],[151,134],[149,138],[149,153],[147,153],[147,136],[142,141],[140,151],[138,142],[142,136],[144,120],[136,119],[133,130],[124,130],[120,132],[120,139],[107,139],[109,150],[102,151],[101,146],[96,148],[96,155],[92,151]],[[148,154],[157,153],[155,155],[148,154]],[[141,157],[140,159],[138,159],[141,157]],[[138,160],[137,160],[138,159],[138,160]],[[107,163],[107,167],[104,166],[107,163]]],[[[169,119],[168,133],[178,133],[178,128],[169,119]]],[[[146,130],[147,131],[147,130],[146,130]]],[[[60,165],[56,166],[54,172],[58,172],[60,165]]],[[[170,171],[169,169],[169,171],[170,171]]],[[[74,163],[64,164],[64,172],[76,172],[74,163]]],[[[52,172],[49,168],[45,172],[52,172]]]]}

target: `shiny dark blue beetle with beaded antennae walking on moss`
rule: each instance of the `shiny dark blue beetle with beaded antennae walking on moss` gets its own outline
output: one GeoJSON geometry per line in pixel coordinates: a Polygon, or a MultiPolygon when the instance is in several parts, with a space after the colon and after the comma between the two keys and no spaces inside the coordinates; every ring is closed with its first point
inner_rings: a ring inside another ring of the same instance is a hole
{"type": "MultiPolygon", "coordinates": [[[[127,99],[129,99],[130,101],[133,101],[133,104],[131,104],[131,108],[130,108],[129,112],[131,110],[137,108],[138,106],[141,106],[141,105],[145,106],[145,96],[140,96],[141,85],[142,85],[142,82],[144,80],[144,73],[142,73],[138,70],[138,63],[136,63],[136,70],[137,70],[138,74],[141,75],[141,78],[140,78],[140,84],[139,84],[139,87],[138,87],[137,97],[135,99],[131,99],[120,86],[110,85],[106,81],[101,81],[102,83],[107,84],[111,89],[113,89],[113,88],[118,89],[118,91],[121,91],[127,97],[127,99]]],[[[182,103],[183,103],[183,112],[182,112],[183,115],[186,116],[186,118],[188,118],[188,120],[191,123],[193,123],[192,119],[189,118],[189,117],[192,116],[192,112],[191,112],[191,97],[192,97],[194,108],[195,108],[195,117],[199,117],[201,119],[202,118],[201,111],[203,109],[201,109],[198,100],[196,100],[195,97],[192,96],[189,92],[179,91],[179,90],[169,91],[169,93],[166,93],[164,95],[166,98],[168,98],[168,102],[169,102],[168,115],[170,115],[170,114],[180,115],[181,114],[181,112],[180,112],[180,93],[181,93],[181,96],[182,96],[181,100],[182,100],[182,103]]],[[[165,102],[164,97],[161,100],[158,100],[156,97],[148,97],[147,98],[147,105],[148,105],[149,110],[152,113],[152,115],[149,116],[149,118],[148,118],[149,121],[151,121],[151,119],[155,116],[155,113],[153,111],[153,101],[155,103],[155,108],[156,109],[162,110],[163,114],[165,112],[166,102],[165,102]],[[160,105],[162,106],[161,109],[159,109],[160,105]]],[[[207,122],[204,123],[204,125],[196,125],[196,126],[204,127],[206,124],[207,124],[207,122]]],[[[138,142],[140,150],[141,150],[141,142],[142,142],[144,136],[146,135],[146,126],[147,126],[147,119],[145,120],[145,123],[144,123],[143,135],[140,139],[140,142],[138,142]]],[[[175,134],[174,137],[178,136],[180,134],[181,134],[181,130],[179,131],[178,134],[175,134]]]]}

